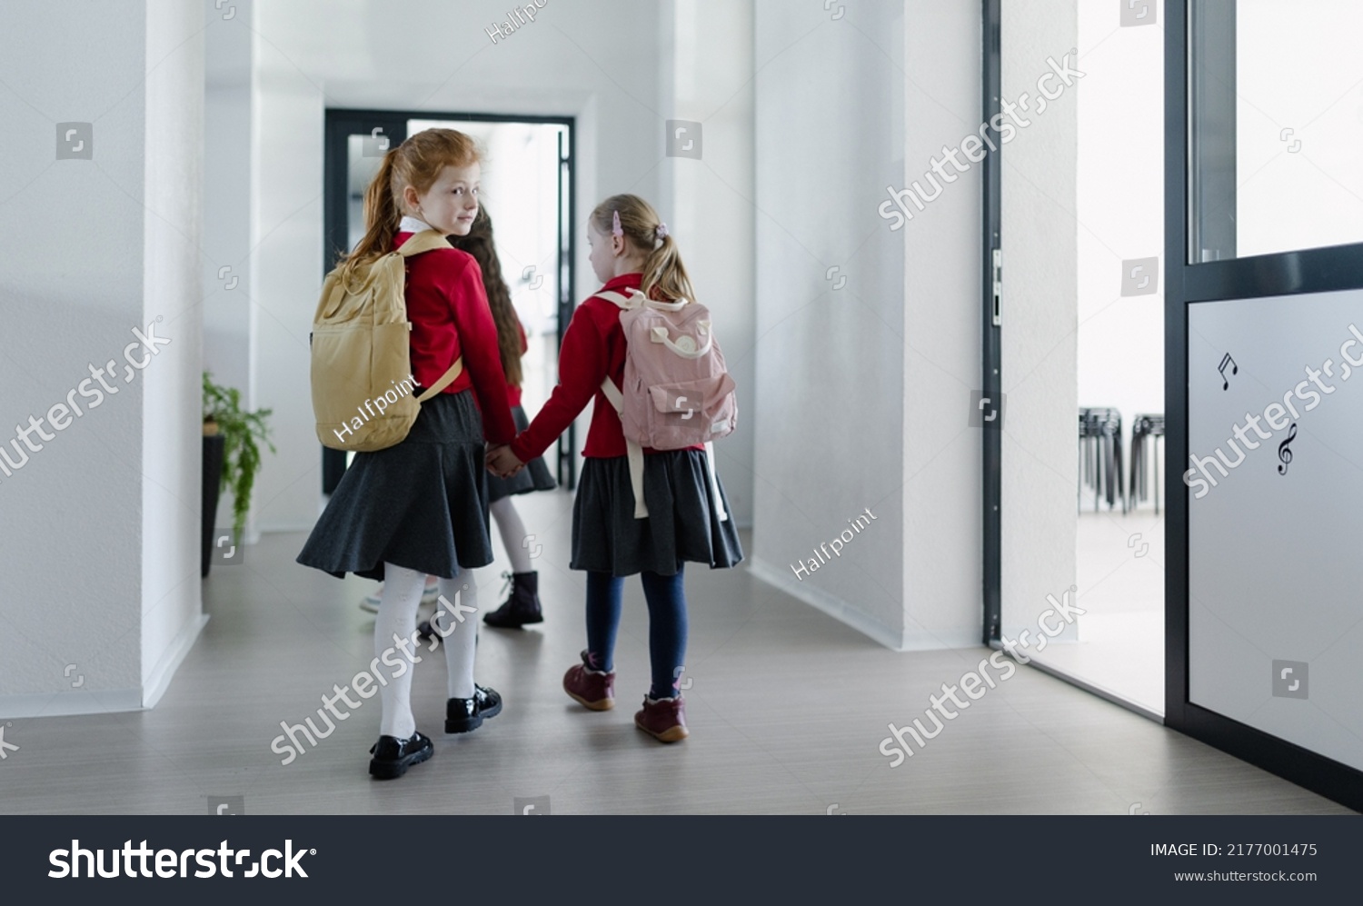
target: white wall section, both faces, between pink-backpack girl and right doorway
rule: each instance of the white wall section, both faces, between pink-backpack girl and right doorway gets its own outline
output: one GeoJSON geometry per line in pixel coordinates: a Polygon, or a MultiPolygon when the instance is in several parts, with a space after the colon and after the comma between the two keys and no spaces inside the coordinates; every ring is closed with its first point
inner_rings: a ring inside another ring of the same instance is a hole
{"type": "Polygon", "coordinates": [[[979,173],[900,232],[878,207],[975,131],[979,8],[836,12],[756,3],[752,569],[890,647],[975,644],[979,173]],[[841,557],[797,578],[867,507],[841,557]]]}

